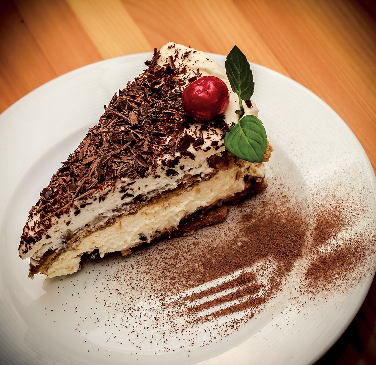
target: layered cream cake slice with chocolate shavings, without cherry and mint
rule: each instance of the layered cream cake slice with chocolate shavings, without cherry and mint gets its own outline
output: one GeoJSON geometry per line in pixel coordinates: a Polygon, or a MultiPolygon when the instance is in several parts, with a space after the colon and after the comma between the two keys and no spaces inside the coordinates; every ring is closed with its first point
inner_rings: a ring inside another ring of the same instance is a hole
{"type": "Polygon", "coordinates": [[[259,162],[224,145],[240,115],[258,113],[252,100],[240,101],[232,91],[224,68],[174,43],[145,63],[30,210],[19,246],[20,257],[30,257],[30,277],[74,273],[97,255],[127,255],[144,242],[223,221],[224,202],[267,186],[269,145],[259,162]],[[219,100],[225,111],[206,121],[182,108],[183,91],[202,76],[223,80],[229,90],[229,100],[219,100]]]}

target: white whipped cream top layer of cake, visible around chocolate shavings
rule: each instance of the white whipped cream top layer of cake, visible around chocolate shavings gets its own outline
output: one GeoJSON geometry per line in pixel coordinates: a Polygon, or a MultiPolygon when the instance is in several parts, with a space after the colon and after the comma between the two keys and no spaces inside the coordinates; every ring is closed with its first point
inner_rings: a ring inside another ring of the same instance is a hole
{"type": "MultiPolygon", "coordinates": [[[[232,92],[224,68],[204,52],[175,43],[169,43],[161,48],[157,63],[163,66],[171,62],[171,59],[178,70],[186,73],[185,80],[194,77],[197,73],[202,76],[216,76],[223,80],[230,92],[230,104],[224,115],[224,123],[228,127],[237,123],[238,115],[235,111],[239,106],[238,96],[232,92]]],[[[182,87],[182,85],[177,86],[177,91],[181,91],[182,87]]],[[[258,109],[253,101],[252,108],[245,103],[243,106],[246,114],[257,115],[258,109]]],[[[59,217],[55,215],[49,217],[50,224],[47,229],[41,222],[38,210],[32,211],[24,228],[28,240],[21,241],[20,257],[34,255],[33,259],[38,260],[47,250],[69,249],[67,242],[74,234],[86,230],[86,226],[102,225],[110,218],[127,214],[132,202],[141,197],[153,197],[163,191],[174,189],[191,176],[202,179],[212,173],[213,169],[209,167],[208,158],[224,151],[225,132],[218,127],[200,130],[201,125],[201,123],[193,123],[182,131],[182,135],[186,134],[194,138],[200,133],[203,136],[203,144],[199,148],[194,148],[192,142],[186,148],[190,157],[182,156],[179,151],[166,152],[158,156],[154,165],[149,166],[144,177],[137,179],[124,177],[106,182],[102,189],[92,192],[89,196],[76,198],[74,206],[68,212],[60,214],[59,217]],[[172,169],[166,166],[166,161],[169,160],[177,161],[174,162],[172,169]]],[[[126,125],[122,128],[126,128],[126,125]]],[[[169,138],[171,137],[166,136],[166,143],[169,138]]],[[[250,164],[248,171],[251,176],[265,175],[263,164],[250,164]]]]}

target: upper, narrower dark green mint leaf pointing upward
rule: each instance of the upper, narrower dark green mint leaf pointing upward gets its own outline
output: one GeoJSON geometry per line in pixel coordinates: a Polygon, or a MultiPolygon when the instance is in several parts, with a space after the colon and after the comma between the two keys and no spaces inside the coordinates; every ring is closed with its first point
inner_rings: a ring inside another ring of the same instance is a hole
{"type": "Polygon", "coordinates": [[[225,66],[232,91],[242,100],[248,100],[253,94],[255,83],[247,58],[236,45],[227,56],[225,66]]]}

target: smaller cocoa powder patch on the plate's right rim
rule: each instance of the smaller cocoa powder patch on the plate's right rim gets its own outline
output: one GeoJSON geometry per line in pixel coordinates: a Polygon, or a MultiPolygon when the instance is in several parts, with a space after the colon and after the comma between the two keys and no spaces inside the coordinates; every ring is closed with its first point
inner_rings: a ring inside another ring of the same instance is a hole
{"type": "Polygon", "coordinates": [[[370,237],[346,236],[344,232],[356,224],[356,209],[328,198],[330,203],[315,207],[315,221],[311,232],[308,268],[305,285],[301,291],[347,290],[352,285],[350,277],[367,255],[370,237]],[[350,214],[351,212],[351,214],[350,214]]]}

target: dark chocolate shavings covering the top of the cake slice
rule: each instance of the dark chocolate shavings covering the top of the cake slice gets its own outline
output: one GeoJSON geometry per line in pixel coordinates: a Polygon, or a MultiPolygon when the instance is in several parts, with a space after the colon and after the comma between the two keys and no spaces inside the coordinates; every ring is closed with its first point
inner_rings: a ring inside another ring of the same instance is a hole
{"type": "MultiPolygon", "coordinates": [[[[184,54],[188,55],[189,52],[184,54]]],[[[100,192],[100,199],[104,200],[118,179],[134,180],[154,174],[158,165],[167,165],[163,161],[166,154],[194,159],[187,149],[191,144],[196,150],[203,146],[205,130],[213,133],[214,129],[218,135],[215,128],[223,132],[229,129],[220,117],[202,124],[195,132],[197,138],[188,135],[186,131],[196,122],[183,113],[181,94],[200,72],[197,69],[192,77],[186,66],[175,65],[179,62],[178,50],[162,65],[158,64],[159,59],[159,51],[155,50],[151,61],[145,62],[144,73],[112,97],[99,123],[88,131],[43,189],[29,212],[29,217],[39,217],[38,226],[30,234],[32,227],[26,224],[21,236],[19,249],[22,247],[23,254],[46,234],[53,219],[68,214],[72,208],[79,214],[76,205],[84,204],[93,193],[100,192]]]]}

